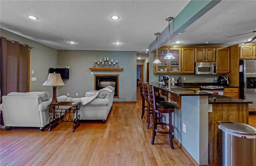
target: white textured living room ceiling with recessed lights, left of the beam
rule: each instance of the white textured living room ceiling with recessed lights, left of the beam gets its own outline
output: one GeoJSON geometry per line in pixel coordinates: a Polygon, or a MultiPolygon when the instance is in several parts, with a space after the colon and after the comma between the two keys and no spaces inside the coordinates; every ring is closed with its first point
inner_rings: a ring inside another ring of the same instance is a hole
{"type": "Polygon", "coordinates": [[[165,18],[177,16],[188,2],[1,0],[0,26],[58,50],[143,51],[166,28],[165,18]],[[120,20],[111,20],[112,14],[120,20]]]}

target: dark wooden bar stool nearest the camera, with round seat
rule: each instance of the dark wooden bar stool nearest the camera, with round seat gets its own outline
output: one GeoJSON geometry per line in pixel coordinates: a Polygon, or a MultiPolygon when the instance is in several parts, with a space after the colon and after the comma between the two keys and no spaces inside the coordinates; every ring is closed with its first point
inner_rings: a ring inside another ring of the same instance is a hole
{"type": "Polygon", "coordinates": [[[152,140],[151,144],[154,144],[156,133],[161,133],[161,134],[169,134],[169,140],[170,140],[170,146],[172,149],[174,149],[173,146],[173,136],[172,133],[174,132],[174,127],[172,126],[172,112],[174,112],[174,105],[170,102],[158,102],[156,101],[156,94],[155,91],[159,91],[159,88],[154,87],[152,85],[148,85],[148,96],[150,99],[149,102],[149,107],[153,111],[153,133],[152,133],[152,140]],[[169,114],[169,123],[165,122],[157,122],[157,114],[169,114]],[[165,125],[169,126],[169,131],[164,131],[164,130],[158,130],[157,126],[158,125],[165,125]]]}

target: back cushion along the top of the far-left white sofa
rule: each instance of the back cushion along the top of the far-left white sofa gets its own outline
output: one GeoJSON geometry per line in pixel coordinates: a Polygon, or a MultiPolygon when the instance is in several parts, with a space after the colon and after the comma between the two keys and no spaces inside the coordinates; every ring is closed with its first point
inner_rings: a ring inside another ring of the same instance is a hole
{"type": "Polygon", "coordinates": [[[42,102],[50,100],[48,92],[10,92],[7,96],[39,96],[42,102]]]}

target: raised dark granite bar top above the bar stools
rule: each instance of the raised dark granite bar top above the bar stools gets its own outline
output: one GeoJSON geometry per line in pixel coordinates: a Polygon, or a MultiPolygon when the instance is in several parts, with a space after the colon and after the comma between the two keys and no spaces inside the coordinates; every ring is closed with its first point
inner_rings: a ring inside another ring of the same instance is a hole
{"type": "Polygon", "coordinates": [[[210,93],[207,92],[201,92],[198,90],[191,90],[188,88],[182,88],[180,86],[171,86],[171,88],[168,88],[168,85],[162,85],[158,82],[149,82],[149,84],[152,84],[153,86],[156,86],[162,90],[166,90],[171,94],[175,94],[177,96],[210,96],[210,93]]]}

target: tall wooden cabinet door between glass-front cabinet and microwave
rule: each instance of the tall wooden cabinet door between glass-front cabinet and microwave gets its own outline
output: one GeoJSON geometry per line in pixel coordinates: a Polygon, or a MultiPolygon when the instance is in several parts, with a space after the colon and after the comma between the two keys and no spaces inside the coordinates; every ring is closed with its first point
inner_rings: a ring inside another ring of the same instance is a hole
{"type": "Polygon", "coordinates": [[[182,48],[182,73],[194,73],[194,48],[182,48]]]}

